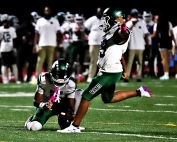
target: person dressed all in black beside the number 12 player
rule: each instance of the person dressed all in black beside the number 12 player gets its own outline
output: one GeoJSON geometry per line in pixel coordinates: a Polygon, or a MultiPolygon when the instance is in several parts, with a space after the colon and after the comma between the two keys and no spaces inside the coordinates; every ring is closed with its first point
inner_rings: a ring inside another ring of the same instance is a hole
{"type": "Polygon", "coordinates": [[[35,26],[33,25],[33,17],[25,14],[23,23],[17,29],[18,36],[18,79],[21,82],[30,82],[32,72],[35,71],[37,54],[33,54],[33,43],[35,35],[35,26]],[[24,70],[26,77],[24,76],[24,70]]]}

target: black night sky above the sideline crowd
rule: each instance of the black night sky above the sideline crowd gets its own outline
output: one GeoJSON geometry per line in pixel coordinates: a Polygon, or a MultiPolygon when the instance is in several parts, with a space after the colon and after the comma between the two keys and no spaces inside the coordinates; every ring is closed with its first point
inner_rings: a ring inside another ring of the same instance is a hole
{"type": "MultiPolygon", "coordinates": [[[[37,11],[39,14],[43,14],[43,8],[46,5],[50,5],[53,9],[53,14],[57,12],[70,11],[72,13],[83,13],[86,18],[92,16],[98,6],[103,8],[109,6],[116,6],[124,9],[126,13],[131,8],[137,8],[140,12],[143,10],[150,10],[153,14],[158,14],[160,11],[171,9],[176,12],[177,8],[173,9],[171,3],[164,2],[162,0],[4,0],[0,5],[0,13],[14,14],[18,17],[22,17],[24,13],[37,11]],[[7,5],[7,6],[6,6],[7,5]],[[166,7],[163,8],[162,6],[166,7]]],[[[177,14],[177,12],[176,12],[177,14]]],[[[172,14],[169,14],[170,16],[172,14]]],[[[174,15],[174,14],[173,14],[174,15]]]]}

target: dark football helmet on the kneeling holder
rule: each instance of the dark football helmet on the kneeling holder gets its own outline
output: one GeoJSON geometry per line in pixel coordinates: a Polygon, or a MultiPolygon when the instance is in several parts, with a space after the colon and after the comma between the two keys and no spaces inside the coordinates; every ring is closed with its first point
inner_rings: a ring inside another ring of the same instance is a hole
{"type": "Polygon", "coordinates": [[[65,60],[57,60],[53,63],[49,73],[54,85],[62,88],[69,80],[69,64],[65,60]]]}

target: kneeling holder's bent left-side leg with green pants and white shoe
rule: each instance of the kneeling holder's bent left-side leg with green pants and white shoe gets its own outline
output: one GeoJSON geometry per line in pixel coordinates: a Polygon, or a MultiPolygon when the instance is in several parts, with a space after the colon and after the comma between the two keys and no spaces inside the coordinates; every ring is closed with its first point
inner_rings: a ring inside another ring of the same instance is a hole
{"type": "Polygon", "coordinates": [[[53,116],[52,110],[43,110],[37,108],[34,116],[30,116],[25,123],[25,128],[31,131],[39,131],[47,120],[53,116]]]}

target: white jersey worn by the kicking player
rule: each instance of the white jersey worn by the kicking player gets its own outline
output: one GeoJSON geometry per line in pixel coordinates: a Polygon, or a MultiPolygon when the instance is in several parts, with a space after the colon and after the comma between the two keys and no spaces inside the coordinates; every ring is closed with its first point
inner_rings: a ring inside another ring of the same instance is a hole
{"type": "Polygon", "coordinates": [[[130,35],[127,41],[122,45],[113,44],[108,46],[106,50],[100,48],[99,54],[102,54],[102,56],[99,55],[97,61],[99,71],[108,72],[108,73],[118,73],[123,71],[121,58],[122,55],[127,50],[129,40],[130,40],[130,35]]]}

